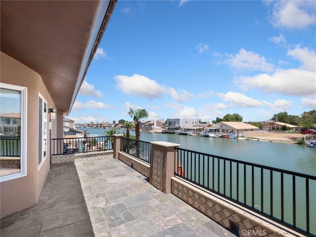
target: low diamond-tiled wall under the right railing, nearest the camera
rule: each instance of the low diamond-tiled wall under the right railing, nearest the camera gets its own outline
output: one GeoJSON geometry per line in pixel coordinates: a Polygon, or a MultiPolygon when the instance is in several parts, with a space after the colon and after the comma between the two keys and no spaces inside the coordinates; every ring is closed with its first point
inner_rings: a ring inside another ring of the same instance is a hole
{"type": "Polygon", "coordinates": [[[177,177],[171,179],[171,192],[227,229],[230,228],[230,221],[236,223],[239,227],[239,237],[303,237],[291,229],[234,205],[225,198],[223,200],[217,195],[202,191],[177,177]]]}

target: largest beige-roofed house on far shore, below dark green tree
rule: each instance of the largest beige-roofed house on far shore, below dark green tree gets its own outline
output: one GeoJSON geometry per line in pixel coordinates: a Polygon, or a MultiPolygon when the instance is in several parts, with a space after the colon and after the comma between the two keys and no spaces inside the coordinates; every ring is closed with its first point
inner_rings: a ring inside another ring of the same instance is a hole
{"type": "Polygon", "coordinates": [[[244,122],[219,122],[211,126],[213,130],[217,130],[221,134],[241,134],[246,131],[258,131],[259,127],[244,123],[244,122]]]}

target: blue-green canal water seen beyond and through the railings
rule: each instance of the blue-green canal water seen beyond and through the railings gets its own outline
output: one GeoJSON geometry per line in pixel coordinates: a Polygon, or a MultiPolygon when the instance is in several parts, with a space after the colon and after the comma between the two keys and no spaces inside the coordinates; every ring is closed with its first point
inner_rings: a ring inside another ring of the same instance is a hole
{"type": "MultiPolygon", "coordinates": [[[[98,136],[103,136],[104,129],[100,128],[83,128],[90,133],[98,136]]],[[[120,130],[123,133],[124,130],[120,130]]],[[[134,135],[134,132],[131,131],[134,135]]],[[[202,136],[187,136],[179,134],[166,134],[166,133],[151,133],[141,132],[140,140],[142,141],[167,141],[172,143],[181,144],[180,148],[197,151],[200,153],[206,153],[210,155],[220,156],[224,158],[232,158],[236,160],[247,161],[251,163],[266,165],[270,167],[285,169],[298,173],[305,173],[316,176],[316,149],[308,148],[305,145],[287,144],[287,143],[276,143],[276,142],[265,142],[257,140],[241,140],[241,139],[228,139],[228,138],[209,138],[202,136]]],[[[201,158],[200,164],[194,159],[191,163],[191,157],[189,162],[186,161],[186,154],[183,154],[182,164],[185,167],[185,177],[191,178],[199,184],[209,184],[211,187],[213,183],[212,175],[210,170],[207,171],[207,162],[212,165],[212,159],[201,158]],[[204,159],[204,166],[203,164],[204,159]],[[208,160],[210,159],[210,161],[208,160]],[[187,162],[187,163],[186,163],[187,162]],[[202,172],[198,177],[198,167],[200,171],[204,170],[205,177],[202,177],[202,172]],[[207,173],[209,174],[207,176],[207,173]]],[[[218,162],[215,159],[214,169],[214,190],[223,193],[224,190],[224,172],[223,172],[223,160],[220,161],[220,182],[217,185],[218,177],[218,162]]],[[[230,169],[230,163],[226,164],[226,170],[230,169]]],[[[232,179],[237,180],[236,163],[232,164],[233,172],[232,179]]],[[[251,167],[246,168],[246,186],[244,187],[244,169],[243,165],[238,168],[239,171],[239,194],[238,200],[244,202],[244,189],[246,189],[246,204],[251,206],[251,167]]],[[[271,212],[271,180],[270,172],[264,171],[264,189],[263,189],[263,203],[261,203],[261,176],[260,168],[254,169],[254,205],[257,205],[258,209],[263,207],[263,211],[267,214],[271,212]]],[[[232,184],[232,194],[230,194],[230,177],[229,173],[226,175],[226,195],[232,196],[237,199],[237,188],[236,182],[232,184]],[[235,184],[235,185],[234,185],[235,184]]],[[[306,230],[306,180],[304,178],[296,178],[296,226],[306,230]]],[[[293,185],[292,176],[284,174],[284,221],[292,224],[293,221],[293,185]]],[[[310,181],[310,229],[311,233],[316,234],[316,182],[310,181]]],[[[277,218],[281,218],[281,194],[280,194],[280,173],[274,172],[273,174],[273,215],[277,218]]]]}

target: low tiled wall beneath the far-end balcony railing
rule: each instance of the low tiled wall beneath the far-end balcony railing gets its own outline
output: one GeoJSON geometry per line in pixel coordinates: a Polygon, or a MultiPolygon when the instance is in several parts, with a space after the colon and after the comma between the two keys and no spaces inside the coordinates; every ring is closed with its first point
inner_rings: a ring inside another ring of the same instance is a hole
{"type": "Polygon", "coordinates": [[[52,164],[113,158],[113,151],[51,156],[52,164]]]}

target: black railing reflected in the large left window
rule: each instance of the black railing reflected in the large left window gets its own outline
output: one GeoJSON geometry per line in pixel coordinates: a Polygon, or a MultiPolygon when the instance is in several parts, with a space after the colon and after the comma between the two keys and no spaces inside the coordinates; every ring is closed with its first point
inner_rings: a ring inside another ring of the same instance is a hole
{"type": "Polygon", "coordinates": [[[21,139],[20,138],[0,138],[0,156],[20,157],[21,139]]]}

